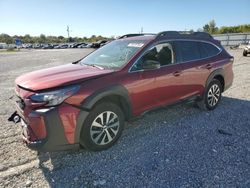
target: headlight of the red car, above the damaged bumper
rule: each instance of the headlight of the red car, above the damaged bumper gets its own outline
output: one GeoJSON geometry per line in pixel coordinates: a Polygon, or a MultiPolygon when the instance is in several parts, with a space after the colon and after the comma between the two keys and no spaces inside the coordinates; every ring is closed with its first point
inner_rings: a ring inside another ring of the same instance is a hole
{"type": "Polygon", "coordinates": [[[80,89],[79,85],[65,87],[62,89],[37,93],[32,95],[30,98],[35,102],[46,102],[45,106],[55,106],[61,104],[65,99],[75,94],[80,89]]]}

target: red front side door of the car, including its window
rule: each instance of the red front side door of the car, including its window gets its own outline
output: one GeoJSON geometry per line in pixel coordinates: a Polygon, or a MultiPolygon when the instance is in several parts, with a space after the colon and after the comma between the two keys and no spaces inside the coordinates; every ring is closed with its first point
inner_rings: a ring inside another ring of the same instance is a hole
{"type": "Polygon", "coordinates": [[[181,96],[181,69],[176,64],[174,50],[170,42],[154,45],[131,67],[129,84],[131,99],[138,113],[161,105],[173,103],[181,96]],[[159,68],[143,69],[147,61],[160,63],[159,68]]]}

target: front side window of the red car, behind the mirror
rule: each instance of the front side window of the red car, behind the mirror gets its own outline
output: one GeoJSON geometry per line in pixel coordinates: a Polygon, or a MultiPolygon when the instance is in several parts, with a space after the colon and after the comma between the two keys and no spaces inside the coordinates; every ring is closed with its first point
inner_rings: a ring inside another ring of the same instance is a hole
{"type": "Polygon", "coordinates": [[[131,71],[142,70],[144,62],[151,60],[157,61],[161,66],[174,63],[173,48],[170,43],[162,43],[153,46],[133,65],[131,71]]]}

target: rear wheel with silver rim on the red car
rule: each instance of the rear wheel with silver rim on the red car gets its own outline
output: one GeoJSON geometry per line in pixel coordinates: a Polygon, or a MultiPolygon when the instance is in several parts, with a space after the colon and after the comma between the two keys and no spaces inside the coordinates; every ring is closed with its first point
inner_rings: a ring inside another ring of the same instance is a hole
{"type": "Polygon", "coordinates": [[[205,89],[202,100],[197,105],[202,110],[214,110],[221,100],[222,85],[219,80],[213,79],[205,89]]]}

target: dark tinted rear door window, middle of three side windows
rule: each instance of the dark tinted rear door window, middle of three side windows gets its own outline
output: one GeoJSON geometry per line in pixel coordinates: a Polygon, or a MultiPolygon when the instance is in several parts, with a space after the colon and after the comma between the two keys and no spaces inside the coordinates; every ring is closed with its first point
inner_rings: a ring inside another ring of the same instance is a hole
{"type": "Polygon", "coordinates": [[[182,62],[200,59],[200,52],[197,42],[194,41],[176,41],[177,48],[182,57],[182,62]]]}

